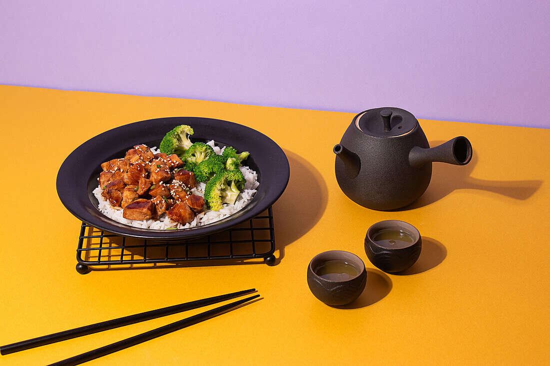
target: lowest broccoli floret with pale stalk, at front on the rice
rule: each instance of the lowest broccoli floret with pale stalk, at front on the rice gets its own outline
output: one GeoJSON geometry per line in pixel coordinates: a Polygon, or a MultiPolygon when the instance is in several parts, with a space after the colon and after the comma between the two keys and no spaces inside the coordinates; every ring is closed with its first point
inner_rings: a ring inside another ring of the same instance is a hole
{"type": "Polygon", "coordinates": [[[240,170],[224,171],[216,174],[205,187],[205,200],[210,209],[218,211],[223,203],[233,204],[237,201],[245,179],[240,170]]]}

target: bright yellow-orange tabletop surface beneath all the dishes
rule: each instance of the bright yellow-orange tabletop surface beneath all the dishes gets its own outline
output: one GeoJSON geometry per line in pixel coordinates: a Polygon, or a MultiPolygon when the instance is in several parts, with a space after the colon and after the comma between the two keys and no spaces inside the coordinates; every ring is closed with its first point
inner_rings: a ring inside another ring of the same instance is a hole
{"type": "MultiPolygon", "coordinates": [[[[550,363],[550,130],[421,120],[431,146],[464,135],[474,158],[434,164],[411,209],[377,212],[345,197],[334,176],[332,147],[350,113],[12,86],[0,87],[0,101],[2,345],[255,287],[260,301],[90,364],[550,363]],[[80,221],[55,186],[63,159],[103,131],[170,116],[234,121],[284,149],[291,174],[273,206],[278,265],[76,273],[80,221]],[[408,275],[384,274],[366,257],[365,232],[384,219],[420,230],[422,254],[408,275]],[[307,264],[329,249],[353,252],[368,268],[365,292],[346,309],[307,287],[307,264]]],[[[201,310],[0,363],[59,361],[201,310]]]]}

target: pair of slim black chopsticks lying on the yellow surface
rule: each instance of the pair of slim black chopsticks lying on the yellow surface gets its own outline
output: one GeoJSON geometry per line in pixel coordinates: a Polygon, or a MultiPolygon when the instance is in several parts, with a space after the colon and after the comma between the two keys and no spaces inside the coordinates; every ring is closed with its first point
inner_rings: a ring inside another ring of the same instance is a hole
{"type": "MultiPolygon", "coordinates": [[[[29,348],[49,345],[50,343],[64,341],[67,339],[72,339],[83,335],[100,332],[103,330],[118,328],[119,326],[130,325],[130,324],[139,323],[140,321],[160,318],[166,315],[176,314],[176,313],[184,312],[186,310],[196,309],[203,306],[215,304],[218,302],[230,300],[232,298],[247,295],[255,291],[256,289],[250,289],[250,290],[238,291],[233,293],[227,293],[226,295],[208,297],[202,300],[186,302],[183,304],[168,306],[166,308],[150,310],[144,313],[128,315],[127,317],[102,321],[101,323],[81,326],[80,328],[64,330],[62,332],[57,332],[54,334],[2,346],[0,347],[0,354],[8,354],[13,352],[28,350],[29,348]]],[[[174,323],[161,326],[160,328],[153,329],[145,333],[124,339],[122,341],[114,342],[114,343],[111,343],[110,345],[96,348],[95,350],[79,354],[78,356],[70,357],[70,358],[64,359],[63,361],[52,363],[52,365],[78,365],[80,363],[105,356],[106,354],[109,354],[109,353],[124,350],[124,348],[138,345],[139,343],[149,341],[153,338],[160,337],[162,335],[171,333],[173,331],[183,329],[186,326],[197,324],[197,323],[200,323],[201,321],[211,319],[213,317],[216,317],[217,315],[221,315],[223,313],[229,312],[231,310],[234,310],[237,307],[243,306],[244,304],[250,302],[251,300],[254,300],[259,296],[260,295],[254,295],[254,296],[244,298],[242,300],[238,300],[226,305],[222,305],[217,308],[208,310],[206,312],[193,315],[192,317],[178,320],[178,321],[175,321],[174,323]]]]}

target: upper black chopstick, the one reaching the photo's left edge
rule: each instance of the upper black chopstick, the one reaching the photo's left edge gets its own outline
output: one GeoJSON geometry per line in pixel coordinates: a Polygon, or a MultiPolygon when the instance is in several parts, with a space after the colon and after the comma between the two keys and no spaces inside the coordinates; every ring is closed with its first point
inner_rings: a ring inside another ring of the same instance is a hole
{"type": "Polygon", "coordinates": [[[50,343],[64,341],[67,339],[72,339],[83,335],[100,332],[103,330],[118,328],[119,326],[130,325],[134,323],[139,323],[140,321],[160,318],[166,315],[184,312],[185,310],[196,309],[203,306],[215,304],[218,302],[230,300],[232,298],[243,296],[254,291],[256,291],[256,289],[250,289],[250,290],[238,291],[233,293],[227,293],[226,295],[208,297],[202,300],[196,300],[196,301],[186,302],[183,304],[168,306],[166,308],[150,310],[148,312],[128,315],[127,317],[122,317],[118,319],[102,321],[101,323],[81,326],[80,328],[64,330],[61,332],[57,332],[46,336],[36,337],[26,341],[11,343],[9,345],[0,347],[0,354],[8,354],[13,352],[28,350],[29,348],[49,345],[50,343]]]}

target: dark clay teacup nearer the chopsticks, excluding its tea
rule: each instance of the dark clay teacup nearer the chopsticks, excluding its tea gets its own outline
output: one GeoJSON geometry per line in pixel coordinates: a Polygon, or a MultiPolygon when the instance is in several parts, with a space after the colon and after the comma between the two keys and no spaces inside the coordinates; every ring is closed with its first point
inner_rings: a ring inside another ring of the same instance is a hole
{"type": "Polygon", "coordinates": [[[367,271],[365,263],[353,253],[328,251],[317,254],[307,267],[307,285],[318,300],[330,306],[340,306],[354,301],[365,289],[367,271]],[[317,274],[323,263],[332,260],[352,265],[357,275],[346,280],[328,280],[317,274]]]}

